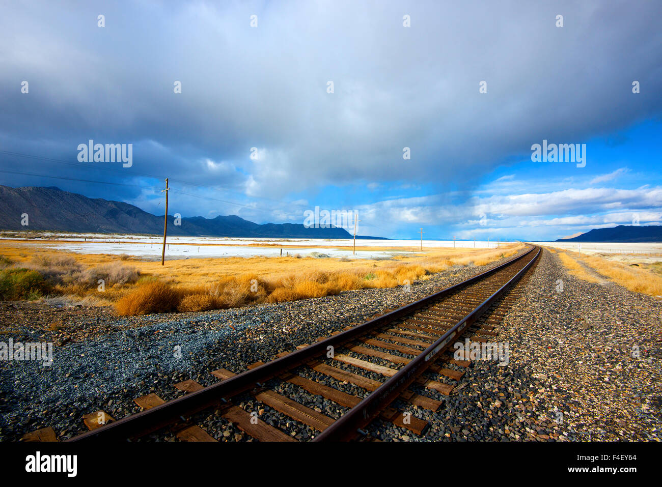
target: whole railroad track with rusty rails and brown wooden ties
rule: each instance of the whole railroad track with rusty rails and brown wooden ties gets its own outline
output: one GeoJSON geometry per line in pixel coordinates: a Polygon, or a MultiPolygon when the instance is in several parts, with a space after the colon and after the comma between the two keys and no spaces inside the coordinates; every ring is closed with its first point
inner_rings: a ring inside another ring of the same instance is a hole
{"type": "Polygon", "coordinates": [[[292,434],[261,420],[265,406],[289,418],[289,424],[312,429],[313,441],[374,439],[366,427],[375,420],[423,435],[427,421],[407,409],[436,411],[442,406],[440,396],[453,392],[470,365],[469,360],[453,359],[449,350],[465,337],[483,343],[494,339],[495,326],[520,296],[518,283],[538,255],[540,247],[531,246],[490,271],[280,353],[268,363],[255,363],[243,373],[213,371],[220,382],[211,386],[180,382],[175,386],[187,394],[168,402],[156,394],[136,398],[143,408],[138,414],[117,421],[103,411],[89,414],[85,424],[91,431],[69,441],[135,440],[164,429],[183,441],[216,441],[199,426],[210,410],[254,439],[295,441],[292,434]],[[296,402],[277,392],[283,385],[297,386],[316,400],[296,402]],[[240,407],[247,404],[242,400],[246,397],[252,410],[240,407]],[[320,398],[333,408],[323,412],[314,406],[320,398]],[[332,411],[336,418],[325,414],[332,411]]]}

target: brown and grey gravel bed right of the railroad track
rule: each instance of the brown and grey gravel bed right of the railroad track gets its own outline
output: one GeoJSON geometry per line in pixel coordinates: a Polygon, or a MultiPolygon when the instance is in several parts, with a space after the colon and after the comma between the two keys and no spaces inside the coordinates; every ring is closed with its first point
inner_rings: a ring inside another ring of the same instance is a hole
{"type": "Polygon", "coordinates": [[[399,441],[659,441],[661,309],[569,275],[545,250],[496,330],[508,365],[473,361],[444,410],[413,410],[430,421],[424,437],[384,428],[399,441]]]}

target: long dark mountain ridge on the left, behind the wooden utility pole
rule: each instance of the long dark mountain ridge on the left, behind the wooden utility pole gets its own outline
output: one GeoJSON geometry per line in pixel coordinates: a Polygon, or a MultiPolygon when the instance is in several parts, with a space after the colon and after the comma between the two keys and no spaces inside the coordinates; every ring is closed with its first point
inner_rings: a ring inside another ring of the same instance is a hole
{"type": "MultiPolygon", "coordinates": [[[[164,216],[153,215],[132,204],[90,199],[56,187],[11,188],[0,185],[0,229],[162,235],[164,216]],[[28,226],[21,225],[24,213],[28,214],[28,226]]],[[[181,225],[175,225],[174,217],[168,215],[167,232],[173,236],[352,238],[344,228],[305,228],[303,224],[293,223],[257,224],[236,215],[181,218],[181,225]]]]}

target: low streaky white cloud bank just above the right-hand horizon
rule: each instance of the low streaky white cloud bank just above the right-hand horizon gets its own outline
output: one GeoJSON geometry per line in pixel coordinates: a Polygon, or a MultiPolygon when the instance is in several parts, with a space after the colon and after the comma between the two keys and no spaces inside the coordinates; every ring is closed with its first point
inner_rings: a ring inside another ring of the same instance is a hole
{"type": "Polygon", "coordinates": [[[573,228],[590,230],[632,224],[635,213],[642,225],[662,221],[662,187],[490,195],[453,204],[445,202],[445,196],[385,200],[357,209],[364,226],[383,228],[387,222],[386,234],[398,232],[403,226],[420,224],[450,226],[463,238],[487,234],[503,236],[508,232],[522,238],[558,238],[573,228]],[[480,224],[481,214],[487,216],[485,226],[480,224]]]}

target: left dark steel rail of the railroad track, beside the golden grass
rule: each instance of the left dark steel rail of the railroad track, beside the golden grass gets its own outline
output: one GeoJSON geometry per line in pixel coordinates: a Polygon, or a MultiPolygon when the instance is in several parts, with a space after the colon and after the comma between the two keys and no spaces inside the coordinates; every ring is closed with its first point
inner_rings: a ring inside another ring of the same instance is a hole
{"type": "MultiPolygon", "coordinates": [[[[412,314],[412,312],[415,312],[424,306],[428,306],[432,302],[448,296],[449,294],[453,294],[453,292],[461,288],[482,281],[486,277],[520,261],[520,259],[524,259],[524,257],[534,251],[535,248],[536,247],[531,246],[531,249],[522,255],[518,255],[489,271],[485,271],[467,279],[466,281],[462,281],[449,288],[430,294],[430,296],[406,304],[397,310],[373,318],[373,320],[355,326],[350,330],[316,341],[312,345],[308,345],[308,347],[293,351],[284,357],[267,362],[264,365],[260,365],[260,367],[244,371],[243,373],[222,380],[222,382],[212,384],[211,386],[207,386],[197,392],[190,392],[185,396],[169,400],[166,403],[154,406],[154,408],[150,408],[149,410],[126,416],[126,418],[107,423],[106,425],[93,429],[92,431],[81,433],[67,441],[87,441],[91,439],[118,441],[152,433],[153,431],[181,420],[183,416],[191,416],[192,414],[216,406],[218,405],[218,402],[224,398],[236,396],[247,390],[252,390],[255,388],[256,382],[265,382],[270,378],[281,375],[285,371],[289,371],[295,367],[299,367],[299,365],[307,363],[313,357],[325,355],[327,350],[326,347],[329,345],[335,346],[342,344],[350,339],[358,337],[359,335],[363,335],[373,328],[378,328],[379,326],[397,320],[402,316],[412,314]]],[[[405,367],[405,369],[406,368],[407,367],[405,367]]]]}

